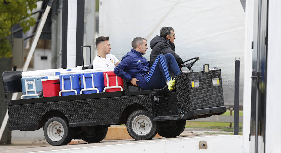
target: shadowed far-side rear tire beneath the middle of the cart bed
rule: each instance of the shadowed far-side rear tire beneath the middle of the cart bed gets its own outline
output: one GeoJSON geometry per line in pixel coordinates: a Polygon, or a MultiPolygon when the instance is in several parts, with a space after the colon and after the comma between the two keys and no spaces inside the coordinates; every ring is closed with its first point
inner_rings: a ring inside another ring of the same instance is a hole
{"type": "Polygon", "coordinates": [[[107,134],[108,127],[96,128],[94,126],[88,127],[88,130],[84,131],[82,140],[94,143],[102,141],[107,134]]]}

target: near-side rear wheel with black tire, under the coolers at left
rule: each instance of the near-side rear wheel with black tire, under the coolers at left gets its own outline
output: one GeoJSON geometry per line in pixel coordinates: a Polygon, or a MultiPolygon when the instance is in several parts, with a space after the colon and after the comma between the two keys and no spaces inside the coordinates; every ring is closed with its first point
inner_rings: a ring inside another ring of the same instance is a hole
{"type": "Polygon", "coordinates": [[[44,126],[44,136],[47,142],[53,146],[67,145],[73,136],[67,120],[61,117],[50,118],[44,126]]]}

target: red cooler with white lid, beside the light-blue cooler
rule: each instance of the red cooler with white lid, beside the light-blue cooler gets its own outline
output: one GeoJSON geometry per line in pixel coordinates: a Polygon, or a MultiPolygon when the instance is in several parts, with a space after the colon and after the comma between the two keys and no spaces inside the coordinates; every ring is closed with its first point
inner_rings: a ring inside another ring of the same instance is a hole
{"type": "Polygon", "coordinates": [[[60,90],[60,76],[42,77],[44,97],[58,96],[60,90]]]}

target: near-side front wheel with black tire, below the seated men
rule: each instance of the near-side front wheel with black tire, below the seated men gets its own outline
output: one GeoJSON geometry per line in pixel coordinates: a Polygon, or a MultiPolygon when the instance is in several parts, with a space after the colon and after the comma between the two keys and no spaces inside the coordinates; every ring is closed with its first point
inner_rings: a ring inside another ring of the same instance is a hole
{"type": "Polygon", "coordinates": [[[127,119],[127,131],[135,140],[150,140],[157,134],[158,128],[148,111],[136,110],[127,119]]]}

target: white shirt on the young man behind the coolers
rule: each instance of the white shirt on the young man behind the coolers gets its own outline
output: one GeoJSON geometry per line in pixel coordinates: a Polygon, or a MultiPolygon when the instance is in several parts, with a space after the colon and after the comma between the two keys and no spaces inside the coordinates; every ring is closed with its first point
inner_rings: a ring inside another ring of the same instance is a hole
{"type": "Polygon", "coordinates": [[[119,60],[113,54],[107,54],[106,58],[102,58],[96,55],[93,60],[93,68],[106,68],[106,67],[115,67],[115,64],[119,60]]]}

